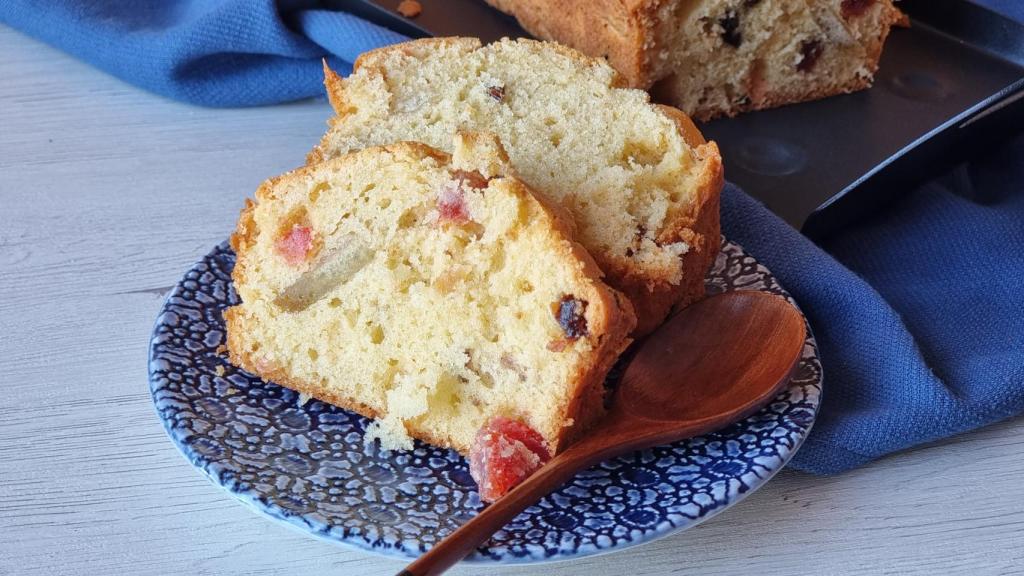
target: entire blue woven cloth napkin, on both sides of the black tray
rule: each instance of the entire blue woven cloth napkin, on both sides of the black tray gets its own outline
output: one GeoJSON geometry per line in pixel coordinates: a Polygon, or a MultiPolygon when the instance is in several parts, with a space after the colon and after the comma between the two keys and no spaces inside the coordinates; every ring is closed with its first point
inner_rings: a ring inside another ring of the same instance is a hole
{"type": "MultiPolygon", "coordinates": [[[[1019,0],[983,3],[1024,20],[1019,0]]],[[[204,106],[319,95],[322,57],[347,73],[403,39],[299,0],[6,0],[0,22],[204,106]]],[[[824,401],[794,466],[838,472],[1024,412],[1024,136],[823,247],[732,186],[722,228],[818,339],[824,401]]]]}

